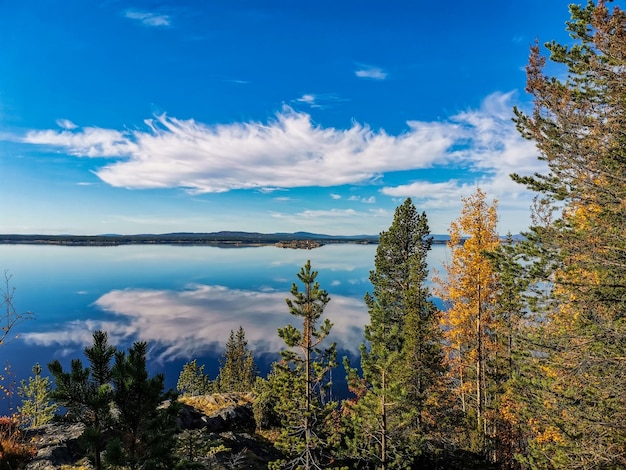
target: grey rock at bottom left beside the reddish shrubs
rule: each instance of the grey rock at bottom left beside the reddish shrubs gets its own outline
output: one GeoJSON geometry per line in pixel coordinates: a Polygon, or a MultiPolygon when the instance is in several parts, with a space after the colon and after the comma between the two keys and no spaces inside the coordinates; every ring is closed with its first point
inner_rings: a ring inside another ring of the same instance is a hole
{"type": "Polygon", "coordinates": [[[82,424],[55,423],[27,430],[26,439],[37,448],[37,455],[26,470],[56,470],[63,465],[93,469],[78,443],[84,429],[82,424]]]}

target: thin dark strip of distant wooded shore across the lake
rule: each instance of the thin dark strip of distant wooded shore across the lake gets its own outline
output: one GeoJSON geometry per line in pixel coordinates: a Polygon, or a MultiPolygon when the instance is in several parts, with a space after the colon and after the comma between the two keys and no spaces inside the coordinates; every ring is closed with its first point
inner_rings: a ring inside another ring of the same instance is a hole
{"type": "MultiPolygon", "coordinates": [[[[446,243],[447,236],[435,236],[433,243],[446,243]]],[[[140,235],[0,235],[3,245],[119,246],[119,245],[207,245],[222,248],[277,246],[313,249],[333,243],[378,244],[378,235],[323,235],[308,232],[257,233],[211,232],[140,235]]]]}

